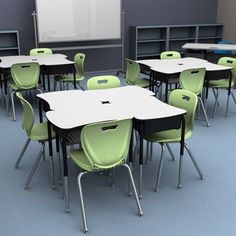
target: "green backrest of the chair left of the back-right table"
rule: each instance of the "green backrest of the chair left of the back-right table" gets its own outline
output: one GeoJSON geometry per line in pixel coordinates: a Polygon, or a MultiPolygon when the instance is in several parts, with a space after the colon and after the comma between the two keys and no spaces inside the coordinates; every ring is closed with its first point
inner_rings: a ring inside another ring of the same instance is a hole
{"type": "Polygon", "coordinates": [[[128,84],[135,85],[140,75],[140,66],[136,61],[126,58],[126,80],[128,84]]]}

